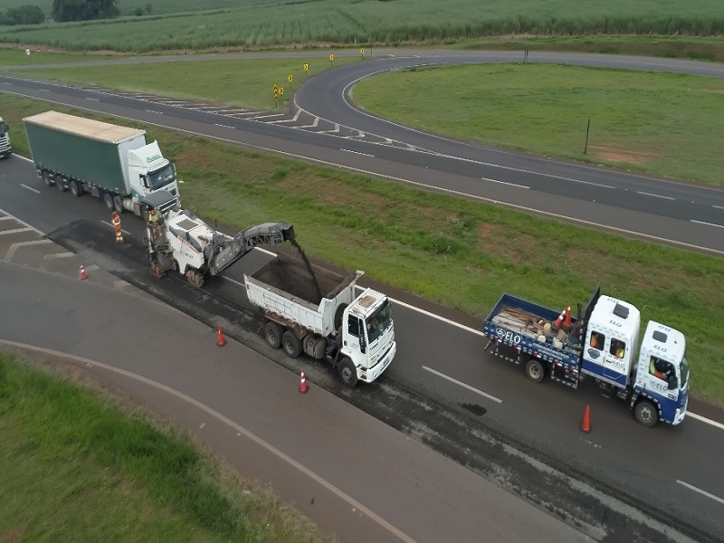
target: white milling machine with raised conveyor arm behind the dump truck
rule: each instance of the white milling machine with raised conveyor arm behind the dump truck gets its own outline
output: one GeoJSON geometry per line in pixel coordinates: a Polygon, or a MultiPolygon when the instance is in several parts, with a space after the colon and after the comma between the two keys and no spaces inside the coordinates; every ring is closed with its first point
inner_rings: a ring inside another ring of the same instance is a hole
{"type": "MultiPolygon", "coordinates": [[[[148,209],[173,204],[173,195],[158,191],[141,200],[148,209]]],[[[173,207],[147,222],[145,244],[151,271],[162,277],[175,270],[196,287],[207,276],[220,275],[257,245],[282,245],[294,240],[294,227],[285,222],[252,226],[236,235],[219,232],[187,209],[173,207]]]]}

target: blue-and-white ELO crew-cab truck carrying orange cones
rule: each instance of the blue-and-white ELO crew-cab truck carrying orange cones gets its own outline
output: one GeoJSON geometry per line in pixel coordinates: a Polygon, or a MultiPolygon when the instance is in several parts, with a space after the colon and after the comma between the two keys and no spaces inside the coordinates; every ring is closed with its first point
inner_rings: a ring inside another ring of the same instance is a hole
{"type": "Polygon", "coordinates": [[[602,296],[600,288],[577,313],[570,317],[568,308],[563,319],[557,310],[503,294],[485,318],[490,340],[484,350],[525,367],[536,383],[550,376],[575,389],[591,377],[603,395],[624,400],[645,426],[681,424],[690,383],[684,335],[652,320],[639,345],[641,312],[602,296]]]}

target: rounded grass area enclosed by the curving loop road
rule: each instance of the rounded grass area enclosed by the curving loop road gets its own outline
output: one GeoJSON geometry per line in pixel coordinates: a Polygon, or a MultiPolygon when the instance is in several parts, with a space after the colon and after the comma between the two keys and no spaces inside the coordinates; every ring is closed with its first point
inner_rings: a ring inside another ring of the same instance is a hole
{"type": "Polygon", "coordinates": [[[719,78],[540,64],[390,71],[353,88],[357,105],[424,131],[718,186],[722,94],[719,78]]]}

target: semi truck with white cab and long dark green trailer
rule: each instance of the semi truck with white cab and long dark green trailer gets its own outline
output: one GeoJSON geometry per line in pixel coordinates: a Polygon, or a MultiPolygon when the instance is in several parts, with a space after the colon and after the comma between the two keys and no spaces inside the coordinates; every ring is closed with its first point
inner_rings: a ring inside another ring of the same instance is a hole
{"type": "Polygon", "coordinates": [[[144,196],[159,190],[180,205],[176,167],[161,154],[146,131],[45,111],[23,119],[38,176],[61,192],[103,198],[118,214],[132,211],[146,218],[144,196]]]}

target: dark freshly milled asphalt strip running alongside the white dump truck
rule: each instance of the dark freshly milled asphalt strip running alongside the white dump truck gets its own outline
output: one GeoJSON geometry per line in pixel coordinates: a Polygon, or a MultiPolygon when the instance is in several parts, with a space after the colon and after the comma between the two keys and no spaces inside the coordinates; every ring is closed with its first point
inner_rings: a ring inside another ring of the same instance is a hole
{"type": "MultiPolygon", "coordinates": [[[[245,289],[235,281],[222,281],[220,278],[216,278],[219,281],[207,281],[203,288],[198,288],[186,281],[180,273],[167,273],[166,277],[158,279],[149,271],[148,245],[144,245],[143,240],[145,233],[145,227],[140,227],[137,233],[131,232],[124,236],[126,243],[115,243],[113,231],[107,225],[81,219],[48,233],[46,237],[78,254],[86,267],[90,263],[97,264],[157,300],[204,322],[210,327],[209,349],[215,348],[217,326],[224,326],[224,334],[228,338],[242,342],[297,375],[303,367],[313,386],[337,395],[472,472],[495,481],[511,493],[522,493],[526,500],[537,503],[541,509],[550,510],[550,497],[555,495],[555,507],[549,512],[577,529],[586,531],[586,526],[603,523],[608,537],[617,540],[674,540],[664,537],[662,532],[652,529],[646,522],[632,519],[620,510],[609,507],[605,494],[610,488],[605,483],[599,486],[598,481],[585,473],[576,472],[571,466],[557,462],[553,462],[552,468],[538,471],[536,462],[531,462],[531,459],[538,459],[538,453],[487,424],[485,410],[481,406],[460,405],[450,399],[433,398],[424,392],[411,390],[397,382],[394,372],[386,372],[374,383],[350,391],[329,371],[325,363],[311,358],[292,359],[284,355],[281,349],[270,351],[262,336],[263,315],[246,299],[245,289]],[[507,446],[501,447],[500,443],[506,443],[507,446]],[[509,451],[511,448],[515,452],[509,451]],[[504,481],[500,479],[500,473],[505,473],[504,481]],[[567,477],[586,481],[601,491],[602,499],[595,499],[589,492],[579,490],[578,485],[567,481],[567,477]],[[581,514],[583,504],[585,515],[581,514]]],[[[283,247],[280,250],[285,251],[283,247]]],[[[290,376],[290,390],[293,393],[296,393],[299,384],[297,375],[290,376]]],[[[540,460],[548,463],[551,459],[540,460]]],[[[635,504],[654,519],[681,530],[695,540],[716,540],[691,521],[671,519],[666,511],[653,510],[650,505],[633,496],[625,496],[620,491],[616,496],[618,500],[635,504]]]]}

